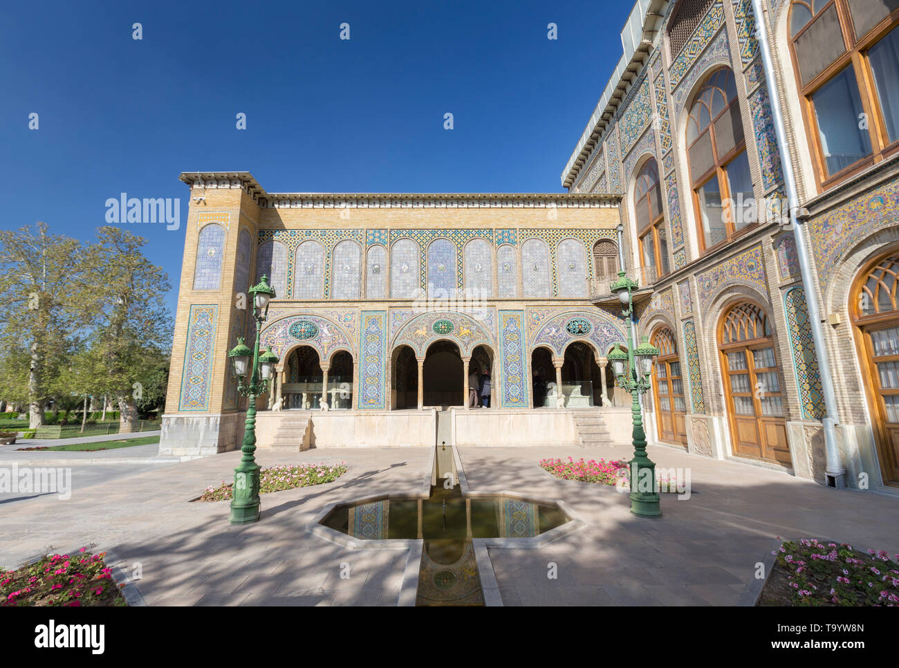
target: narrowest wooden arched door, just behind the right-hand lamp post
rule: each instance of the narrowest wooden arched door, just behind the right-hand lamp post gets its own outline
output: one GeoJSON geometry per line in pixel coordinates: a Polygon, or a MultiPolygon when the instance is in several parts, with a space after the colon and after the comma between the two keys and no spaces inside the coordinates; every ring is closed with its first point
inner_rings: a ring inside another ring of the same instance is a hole
{"type": "Polygon", "coordinates": [[[676,339],[668,327],[659,327],[653,333],[651,343],[659,349],[653,369],[659,440],[687,445],[687,404],[683,397],[681,360],[677,354],[676,339]]]}

